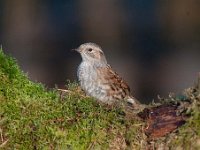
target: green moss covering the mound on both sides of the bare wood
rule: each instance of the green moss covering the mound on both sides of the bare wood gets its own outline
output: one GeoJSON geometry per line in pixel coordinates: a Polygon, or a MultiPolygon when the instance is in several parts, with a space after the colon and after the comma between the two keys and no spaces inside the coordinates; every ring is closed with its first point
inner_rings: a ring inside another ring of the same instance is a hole
{"type": "MultiPolygon", "coordinates": [[[[64,95],[32,82],[0,50],[0,149],[146,149],[145,123],[85,97],[76,83],[64,95]]],[[[187,90],[187,123],[153,141],[155,147],[198,148],[200,92],[187,90]]]]}

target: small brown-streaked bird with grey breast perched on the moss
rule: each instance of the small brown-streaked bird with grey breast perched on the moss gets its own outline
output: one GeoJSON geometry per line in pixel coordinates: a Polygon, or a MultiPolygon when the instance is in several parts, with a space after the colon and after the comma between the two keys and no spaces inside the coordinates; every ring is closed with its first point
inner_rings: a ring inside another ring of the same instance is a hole
{"type": "Polygon", "coordinates": [[[139,104],[131,95],[128,84],[107,63],[99,45],[89,42],[74,50],[82,57],[77,76],[86,95],[108,105],[125,102],[134,107],[139,104]]]}

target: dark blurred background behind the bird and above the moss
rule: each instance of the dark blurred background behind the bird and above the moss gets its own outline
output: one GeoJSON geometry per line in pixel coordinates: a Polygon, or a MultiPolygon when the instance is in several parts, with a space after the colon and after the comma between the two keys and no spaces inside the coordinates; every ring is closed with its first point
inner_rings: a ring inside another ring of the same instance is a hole
{"type": "Polygon", "coordinates": [[[33,81],[77,80],[71,49],[99,44],[143,102],[180,93],[200,71],[199,0],[0,0],[0,44],[33,81]]]}

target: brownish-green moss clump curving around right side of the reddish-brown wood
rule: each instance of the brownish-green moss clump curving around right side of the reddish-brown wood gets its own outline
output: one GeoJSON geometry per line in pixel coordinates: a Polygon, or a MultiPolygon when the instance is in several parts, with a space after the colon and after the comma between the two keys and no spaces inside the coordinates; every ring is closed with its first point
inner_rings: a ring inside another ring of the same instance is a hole
{"type": "MultiPolygon", "coordinates": [[[[200,76],[199,76],[200,79],[200,76]]],[[[200,84],[199,84],[200,85],[200,84]]],[[[185,90],[183,96],[161,99],[162,103],[178,105],[186,123],[164,137],[149,141],[148,147],[156,149],[200,149],[200,90],[198,86],[185,90]]],[[[154,104],[156,105],[156,104],[154,104]]]]}

